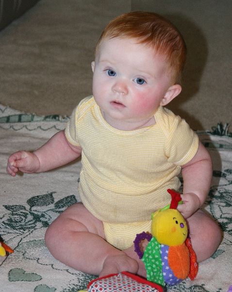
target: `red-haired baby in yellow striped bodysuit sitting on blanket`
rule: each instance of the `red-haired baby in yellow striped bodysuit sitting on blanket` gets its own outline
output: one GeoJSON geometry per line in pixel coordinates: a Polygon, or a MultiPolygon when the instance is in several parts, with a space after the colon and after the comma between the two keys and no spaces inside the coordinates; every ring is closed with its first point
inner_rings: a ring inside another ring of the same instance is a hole
{"type": "Polygon", "coordinates": [[[64,131],[33,153],[8,159],[16,176],[65,165],[82,155],[81,203],[49,226],[50,253],[84,273],[128,271],[146,277],[134,252],[137,233],[150,231],[151,213],[170,203],[182,169],[183,204],[198,262],[217,249],[218,225],[199,207],[212,179],[209,153],[184,120],[165,109],[182,90],[186,48],[165,18],[131,12],[113,19],[96,47],[93,96],[73,111],[64,131]]]}

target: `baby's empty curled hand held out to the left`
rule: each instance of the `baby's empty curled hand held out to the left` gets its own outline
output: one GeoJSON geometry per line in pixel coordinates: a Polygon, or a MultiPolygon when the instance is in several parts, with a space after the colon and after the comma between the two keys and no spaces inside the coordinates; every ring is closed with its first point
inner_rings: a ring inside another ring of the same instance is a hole
{"type": "Polygon", "coordinates": [[[39,169],[37,156],[28,151],[18,151],[8,158],[6,171],[15,177],[18,170],[24,173],[33,173],[39,169]]]}

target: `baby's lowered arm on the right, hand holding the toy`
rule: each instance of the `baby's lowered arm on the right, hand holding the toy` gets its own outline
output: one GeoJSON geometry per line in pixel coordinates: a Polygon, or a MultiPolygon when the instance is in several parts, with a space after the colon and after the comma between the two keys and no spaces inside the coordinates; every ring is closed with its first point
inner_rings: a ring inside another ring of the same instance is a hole
{"type": "Polygon", "coordinates": [[[193,159],[182,165],[183,204],[178,210],[184,218],[189,218],[204,203],[212,180],[213,166],[206,148],[199,142],[193,159]]]}

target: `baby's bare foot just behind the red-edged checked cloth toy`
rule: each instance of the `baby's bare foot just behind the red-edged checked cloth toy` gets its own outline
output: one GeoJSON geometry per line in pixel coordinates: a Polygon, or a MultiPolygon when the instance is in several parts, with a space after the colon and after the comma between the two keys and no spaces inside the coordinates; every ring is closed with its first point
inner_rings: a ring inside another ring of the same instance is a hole
{"type": "Polygon", "coordinates": [[[137,261],[127,255],[107,256],[99,277],[123,271],[136,274],[138,271],[137,261]]]}

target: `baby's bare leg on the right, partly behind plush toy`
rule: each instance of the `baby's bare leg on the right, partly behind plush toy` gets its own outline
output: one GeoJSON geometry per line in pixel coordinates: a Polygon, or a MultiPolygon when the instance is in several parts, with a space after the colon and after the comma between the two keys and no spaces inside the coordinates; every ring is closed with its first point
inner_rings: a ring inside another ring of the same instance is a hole
{"type": "Polygon", "coordinates": [[[221,242],[221,230],[202,210],[195,212],[186,221],[197,261],[201,262],[215,253],[221,242]]]}

